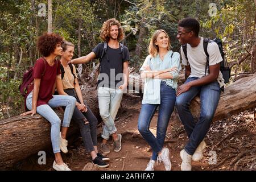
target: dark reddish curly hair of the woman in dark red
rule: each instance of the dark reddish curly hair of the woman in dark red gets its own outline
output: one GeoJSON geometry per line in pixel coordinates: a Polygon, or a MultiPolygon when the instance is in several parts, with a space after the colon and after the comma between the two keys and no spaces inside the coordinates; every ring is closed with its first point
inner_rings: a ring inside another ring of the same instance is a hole
{"type": "Polygon", "coordinates": [[[60,35],[45,32],[42,36],[39,36],[36,46],[43,56],[49,56],[54,52],[57,44],[62,42],[63,38],[60,35]]]}

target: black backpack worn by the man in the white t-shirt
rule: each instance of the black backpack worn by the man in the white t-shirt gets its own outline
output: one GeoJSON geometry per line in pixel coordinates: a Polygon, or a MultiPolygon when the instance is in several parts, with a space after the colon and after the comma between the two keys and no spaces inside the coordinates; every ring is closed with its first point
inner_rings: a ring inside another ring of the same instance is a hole
{"type": "MultiPolygon", "coordinates": [[[[205,74],[204,75],[206,75],[207,68],[209,67],[209,54],[207,52],[207,46],[208,46],[208,43],[212,42],[212,41],[217,43],[218,49],[220,50],[220,53],[221,53],[222,61],[221,61],[220,71],[221,71],[222,76],[224,78],[224,83],[226,84],[226,83],[229,82],[231,69],[229,68],[228,62],[225,59],[225,54],[223,52],[222,42],[221,42],[221,39],[219,39],[219,38],[215,38],[213,40],[204,38],[204,42],[203,42],[204,52],[205,52],[205,55],[207,55],[207,63],[205,65],[205,74]]],[[[187,44],[184,44],[182,46],[182,49],[183,49],[183,52],[184,52],[184,55],[185,55],[186,59],[188,60],[187,44]]],[[[208,69],[208,71],[209,71],[209,69],[208,69]]]]}

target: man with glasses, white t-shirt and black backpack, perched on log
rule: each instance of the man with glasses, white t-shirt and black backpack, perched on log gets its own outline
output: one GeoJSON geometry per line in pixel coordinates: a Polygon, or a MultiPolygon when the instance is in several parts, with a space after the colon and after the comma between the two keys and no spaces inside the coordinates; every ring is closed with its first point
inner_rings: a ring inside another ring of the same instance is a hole
{"type": "Polygon", "coordinates": [[[204,51],[204,38],[199,36],[200,25],[194,18],[180,20],[177,39],[181,46],[182,63],[185,65],[183,85],[177,88],[176,108],[188,135],[188,143],[180,152],[181,170],[191,171],[191,159],[199,161],[206,147],[204,138],[210,128],[213,115],[220,100],[224,79],[220,72],[222,57],[215,42],[209,42],[209,66],[204,51]],[[201,111],[199,121],[195,121],[189,110],[189,104],[199,94],[201,111]]]}

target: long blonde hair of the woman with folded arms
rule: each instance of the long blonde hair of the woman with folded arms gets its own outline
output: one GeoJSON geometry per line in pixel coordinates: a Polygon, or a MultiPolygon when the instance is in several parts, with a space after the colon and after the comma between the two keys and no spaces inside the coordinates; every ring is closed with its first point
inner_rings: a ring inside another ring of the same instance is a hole
{"type": "Polygon", "coordinates": [[[164,32],[164,34],[167,35],[167,38],[169,40],[167,50],[170,51],[170,49],[172,48],[170,38],[169,38],[168,34],[166,33],[166,31],[156,30],[154,32],[154,34],[152,35],[151,40],[150,40],[150,45],[148,46],[148,53],[151,55],[151,57],[155,57],[159,52],[158,45],[156,45],[155,42],[156,42],[156,39],[158,38],[158,35],[162,32],[164,32]]]}

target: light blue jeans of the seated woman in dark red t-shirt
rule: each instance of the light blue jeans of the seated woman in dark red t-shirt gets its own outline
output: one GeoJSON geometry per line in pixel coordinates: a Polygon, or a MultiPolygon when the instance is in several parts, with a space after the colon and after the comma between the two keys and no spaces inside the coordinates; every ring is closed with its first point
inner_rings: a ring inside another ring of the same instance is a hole
{"type": "MultiPolygon", "coordinates": [[[[28,94],[26,100],[27,109],[32,109],[32,92],[28,94]]],[[[60,118],[57,116],[55,111],[51,107],[65,106],[63,127],[69,127],[73,111],[76,106],[76,98],[72,96],[61,96],[53,95],[53,98],[49,100],[48,104],[40,105],[36,107],[36,113],[42,115],[46,118],[52,125],[51,127],[51,141],[53,153],[56,154],[60,152],[60,118]]]]}

